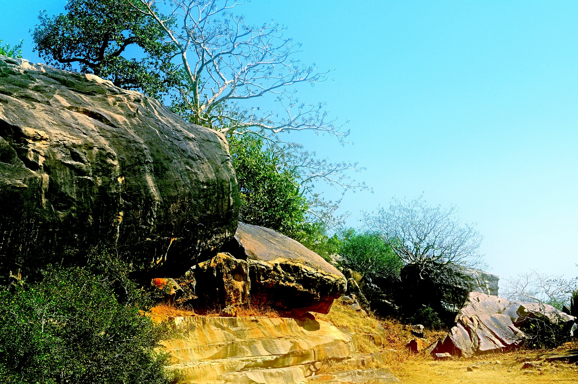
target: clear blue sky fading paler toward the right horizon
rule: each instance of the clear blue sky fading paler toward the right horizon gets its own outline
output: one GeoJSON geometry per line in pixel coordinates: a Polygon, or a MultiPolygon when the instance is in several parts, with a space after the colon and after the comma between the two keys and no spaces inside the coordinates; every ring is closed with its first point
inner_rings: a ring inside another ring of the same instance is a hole
{"type": "MultiPolygon", "coordinates": [[[[25,39],[40,9],[64,1],[0,0],[0,39],[25,39]]],[[[239,11],[275,19],[303,43],[300,57],[335,68],[299,90],[350,120],[354,145],[295,141],[333,160],[359,161],[375,193],[361,210],[424,192],[479,223],[491,272],[578,275],[578,3],[253,0],[239,11]]]]}

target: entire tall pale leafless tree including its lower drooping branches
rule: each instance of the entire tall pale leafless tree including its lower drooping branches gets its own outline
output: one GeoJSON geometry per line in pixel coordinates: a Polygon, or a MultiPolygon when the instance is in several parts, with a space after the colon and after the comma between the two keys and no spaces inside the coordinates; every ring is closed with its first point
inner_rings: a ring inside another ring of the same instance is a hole
{"type": "Polygon", "coordinates": [[[307,196],[310,219],[321,221],[328,230],[343,223],[350,215],[336,214],[343,194],[370,191],[350,174],[364,168],[358,163],[317,158],[316,153],[279,136],[310,130],[345,143],[349,130],[329,119],[324,102],[304,104],[296,95],[295,86],[323,82],[331,69],[320,72],[316,64],[303,65],[297,60],[301,45],[284,36],[283,25],[274,21],[252,25],[232,13],[244,1],[169,0],[171,11],[165,17],[158,12],[164,1],[118,1],[154,20],[165,31],[163,43],[176,47],[174,59],[182,82],[173,110],[191,123],[227,136],[260,136],[268,150],[283,157],[286,167],[297,175],[297,187],[307,196]],[[254,105],[256,99],[267,96],[274,98],[277,112],[254,105]],[[314,190],[319,182],[334,187],[341,198],[326,199],[314,190]]]}

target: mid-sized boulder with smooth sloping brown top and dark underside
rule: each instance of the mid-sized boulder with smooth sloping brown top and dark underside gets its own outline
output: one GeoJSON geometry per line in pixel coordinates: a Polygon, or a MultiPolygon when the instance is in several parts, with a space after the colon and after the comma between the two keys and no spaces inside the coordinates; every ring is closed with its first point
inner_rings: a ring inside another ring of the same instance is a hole
{"type": "Polygon", "coordinates": [[[239,223],[235,238],[221,248],[247,260],[251,302],[268,303],[295,315],[328,313],[347,289],[333,265],[301,243],[269,228],[239,223]]]}

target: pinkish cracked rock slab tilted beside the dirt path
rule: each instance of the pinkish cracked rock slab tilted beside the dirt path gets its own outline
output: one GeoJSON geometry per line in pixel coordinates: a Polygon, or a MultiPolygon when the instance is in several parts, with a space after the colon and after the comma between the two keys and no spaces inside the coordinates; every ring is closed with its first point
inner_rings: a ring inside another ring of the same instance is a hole
{"type": "Polygon", "coordinates": [[[472,356],[515,348],[526,338],[518,327],[528,317],[542,317],[552,323],[573,323],[576,320],[576,317],[560,312],[551,305],[508,301],[502,297],[472,292],[455,317],[455,326],[450,333],[425,351],[472,356]]]}

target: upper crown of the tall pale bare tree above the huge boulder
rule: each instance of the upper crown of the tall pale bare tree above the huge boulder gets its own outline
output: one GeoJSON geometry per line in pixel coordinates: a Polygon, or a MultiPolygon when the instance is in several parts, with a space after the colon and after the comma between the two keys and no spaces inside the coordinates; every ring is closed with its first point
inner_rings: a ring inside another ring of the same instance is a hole
{"type": "Polygon", "coordinates": [[[156,5],[164,1],[118,1],[154,19],[165,31],[165,43],[176,47],[184,81],[173,107],[192,123],[229,135],[313,130],[341,142],[349,135],[336,119],[328,119],[324,102],[304,104],[294,89],[326,80],[331,69],[319,72],[315,64],[295,59],[301,45],[283,35],[283,25],[251,25],[233,14],[232,8],[244,2],[169,0],[172,10],[162,17],[156,5]],[[283,112],[251,106],[265,95],[275,97],[283,112]]]}

